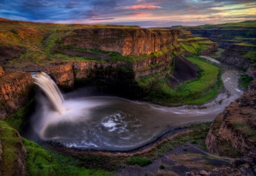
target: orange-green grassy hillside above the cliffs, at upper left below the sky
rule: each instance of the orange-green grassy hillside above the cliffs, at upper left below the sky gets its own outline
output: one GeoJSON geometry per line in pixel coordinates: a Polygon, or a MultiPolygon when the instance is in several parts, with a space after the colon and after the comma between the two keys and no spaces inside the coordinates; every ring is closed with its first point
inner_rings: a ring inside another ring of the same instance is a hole
{"type": "Polygon", "coordinates": [[[52,47],[59,44],[62,37],[72,35],[70,30],[79,28],[140,27],[132,25],[32,23],[0,19],[0,50],[4,51],[0,54],[0,61],[2,57],[2,63],[0,63],[4,67],[19,68],[33,64],[46,65],[52,62],[63,62],[71,58],[79,59],[79,57],[51,53],[52,47]],[[11,57],[6,57],[5,52],[11,57]],[[15,55],[19,56],[15,57],[15,55]]]}

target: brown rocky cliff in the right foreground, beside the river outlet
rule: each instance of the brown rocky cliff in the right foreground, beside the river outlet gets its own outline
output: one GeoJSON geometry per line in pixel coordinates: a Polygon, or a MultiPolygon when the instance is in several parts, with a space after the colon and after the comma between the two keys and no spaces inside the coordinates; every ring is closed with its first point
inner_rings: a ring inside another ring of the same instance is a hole
{"type": "Polygon", "coordinates": [[[219,114],[210,127],[207,148],[225,155],[225,144],[249,154],[256,150],[256,81],[250,83],[243,96],[232,102],[219,114]]]}

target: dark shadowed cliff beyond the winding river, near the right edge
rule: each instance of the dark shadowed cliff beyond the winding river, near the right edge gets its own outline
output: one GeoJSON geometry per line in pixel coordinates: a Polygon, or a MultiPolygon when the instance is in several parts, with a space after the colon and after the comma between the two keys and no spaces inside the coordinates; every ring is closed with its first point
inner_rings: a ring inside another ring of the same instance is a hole
{"type": "Polygon", "coordinates": [[[247,69],[251,61],[245,58],[246,51],[256,50],[254,46],[230,45],[221,56],[221,61],[239,68],[247,69]]]}

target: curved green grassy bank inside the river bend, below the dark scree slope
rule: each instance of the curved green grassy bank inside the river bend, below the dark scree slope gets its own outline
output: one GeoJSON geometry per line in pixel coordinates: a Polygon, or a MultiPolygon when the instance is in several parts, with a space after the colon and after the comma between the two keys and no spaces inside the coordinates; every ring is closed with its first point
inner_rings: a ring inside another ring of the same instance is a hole
{"type": "Polygon", "coordinates": [[[167,106],[201,105],[218,95],[221,88],[220,68],[196,56],[187,59],[199,66],[199,78],[176,88],[171,88],[167,79],[157,80],[152,85],[148,100],[167,106]]]}

